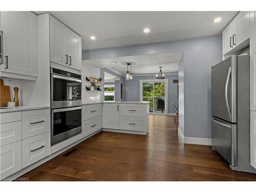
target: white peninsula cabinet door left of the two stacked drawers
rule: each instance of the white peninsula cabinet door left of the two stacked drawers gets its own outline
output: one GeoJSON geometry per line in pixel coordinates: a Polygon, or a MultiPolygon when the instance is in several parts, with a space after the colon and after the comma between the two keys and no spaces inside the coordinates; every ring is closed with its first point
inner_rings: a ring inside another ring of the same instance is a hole
{"type": "Polygon", "coordinates": [[[120,104],[104,103],[102,109],[102,128],[120,129],[120,104]]]}

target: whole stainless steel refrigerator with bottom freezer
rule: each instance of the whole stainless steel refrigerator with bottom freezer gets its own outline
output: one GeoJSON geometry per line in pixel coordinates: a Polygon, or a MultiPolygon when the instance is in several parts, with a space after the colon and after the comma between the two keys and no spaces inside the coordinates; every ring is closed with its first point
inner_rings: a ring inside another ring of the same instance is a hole
{"type": "Polygon", "coordinates": [[[232,170],[250,166],[250,58],[233,55],[211,67],[211,144],[232,170]]]}

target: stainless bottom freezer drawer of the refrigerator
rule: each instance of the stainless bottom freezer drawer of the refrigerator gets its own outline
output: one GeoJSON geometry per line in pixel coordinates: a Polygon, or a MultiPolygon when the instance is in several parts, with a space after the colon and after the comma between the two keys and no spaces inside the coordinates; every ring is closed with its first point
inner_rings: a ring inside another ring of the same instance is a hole
{"type": "Polygon", "coordinates": [[[211,119],[211,145],[231,166],[237,166],[237,125],[211,119]]]}

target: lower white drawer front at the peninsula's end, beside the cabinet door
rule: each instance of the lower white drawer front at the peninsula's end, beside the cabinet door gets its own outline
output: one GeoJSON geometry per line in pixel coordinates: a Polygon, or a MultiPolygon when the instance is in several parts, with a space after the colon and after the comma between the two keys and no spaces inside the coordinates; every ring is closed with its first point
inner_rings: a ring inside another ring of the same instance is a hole
{"type": "Polygon", "coordinates": [[[120,117],[120,130],[145,131],[145,121],[139,117],[120,117]]]}

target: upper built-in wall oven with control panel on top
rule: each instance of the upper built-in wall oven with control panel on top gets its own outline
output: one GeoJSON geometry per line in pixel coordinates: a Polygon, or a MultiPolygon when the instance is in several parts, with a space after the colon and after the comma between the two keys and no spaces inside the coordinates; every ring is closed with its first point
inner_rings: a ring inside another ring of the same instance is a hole
{"type": "Polygon", "coordinates": [[[51,68],[51,108],[80,106],[81,75],[51,68]]]}

